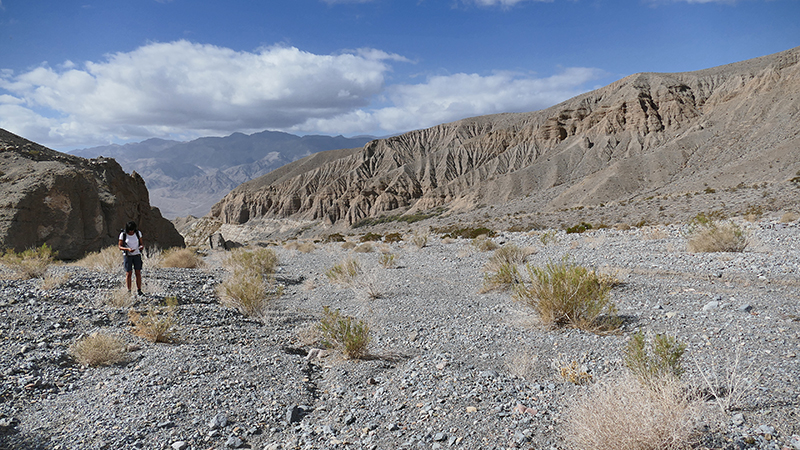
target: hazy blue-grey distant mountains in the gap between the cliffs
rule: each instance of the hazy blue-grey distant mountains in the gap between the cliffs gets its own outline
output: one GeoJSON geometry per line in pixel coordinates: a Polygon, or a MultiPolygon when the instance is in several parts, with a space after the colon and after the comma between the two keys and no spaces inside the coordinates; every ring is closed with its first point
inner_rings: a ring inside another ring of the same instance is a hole
{"type": "Polygon", "coordinates": [[[70,153],[84,158],[111,157],[125,171],[136,171],[147,183],[151,204],[172,219],[204,216],[236,186],[284,164],[321,151],[363,147],[373,139],[264,131],[189,142],[148,139],[70,153]]]}

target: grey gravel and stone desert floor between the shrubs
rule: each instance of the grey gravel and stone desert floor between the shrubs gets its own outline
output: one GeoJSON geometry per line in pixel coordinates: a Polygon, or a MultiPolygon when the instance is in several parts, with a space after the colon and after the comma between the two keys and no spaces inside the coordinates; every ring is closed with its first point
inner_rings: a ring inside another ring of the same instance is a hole
{"type": "Polygon", "coordinates": [[[145,267],[132,308],[177,297],[170,344],[134,336],[128,309],[103,305],[119,274],[60,266],[69,278],[48,290],[2,280],[0,448],[562,449],[589,387],[558,369],[576,361],[595,381],[613,377],[643,329],[687,344],[689,386],[730,373],[737,348],[739,378],[755,381],[732,411],[704,402],[696,448],[800,449],[800,223],[743,226],[744,253],[688,253],[681,225],[494,238],[533,248],[533,265],[569,255],[615,274],[625,324],[609,335],[543,329],[509,293],[481,293],[491,253],[435,234],[421,249],[376,245],[395,255],[391,268],[340,243],[275,247],[285,293],[262,320],[219,304],[222,253],[205,269],[145,267]],[[365,274],[332,284],[325,272],[347,257],[365,274]],[[308,357],[325,305],[369,323],[366,359],[308,357]],[[128,361],[77,364],[70,345],[97,330],[123,336],[128,361]]]}

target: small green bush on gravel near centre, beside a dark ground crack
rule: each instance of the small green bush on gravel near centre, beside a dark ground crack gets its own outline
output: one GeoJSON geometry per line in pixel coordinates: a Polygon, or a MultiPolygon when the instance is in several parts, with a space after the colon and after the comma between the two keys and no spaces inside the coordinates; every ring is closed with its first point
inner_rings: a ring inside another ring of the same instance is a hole
{"type": "Polygon", "coordinates": [[[370,334],[364,321],[342,316],[338,309],[333,311],[328,306],[323,307],[322,315],[319,331],[326,346],[341,350],[350,359],[366,356],[370,334]]]}

